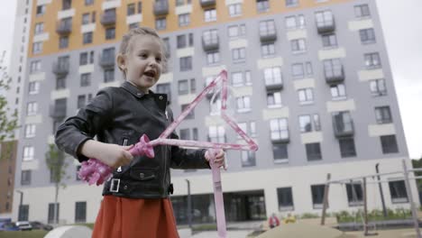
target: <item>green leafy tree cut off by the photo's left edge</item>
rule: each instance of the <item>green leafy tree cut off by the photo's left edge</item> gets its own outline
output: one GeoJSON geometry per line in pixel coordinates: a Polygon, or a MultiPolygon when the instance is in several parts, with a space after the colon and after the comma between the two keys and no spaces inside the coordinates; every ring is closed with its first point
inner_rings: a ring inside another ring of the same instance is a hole
{"type": "Polygon", "coordinates": [[[14,148],[14,130],[18,128],[17,125],[17,111],[10,114],[10,107],[7,106],[7,99],[5,91],[9,90],[11,78],[7,73],[7,67],[4,65],[5,51],[3,51],[0,59],[0,145],[2,146],[2,153],[0,153],[0,160],[9,158],[14,148]]]}

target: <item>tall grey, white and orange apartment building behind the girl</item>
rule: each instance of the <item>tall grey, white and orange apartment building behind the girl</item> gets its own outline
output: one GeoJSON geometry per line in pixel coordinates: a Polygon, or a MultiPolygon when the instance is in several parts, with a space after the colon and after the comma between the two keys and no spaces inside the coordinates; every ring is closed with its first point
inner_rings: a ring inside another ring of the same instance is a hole
{"type": "MultiPolygon", "coordinates": [[[[23,88],[23,107],[32,110],[22,114],[15,176],[27,208],[21,217],[52,220],[48,144],[58,124],[98,89],[123,82],[116,49],[124,32],[139,25],[157,29],[166,43],[168,69],[155,91],[170,96],[175,114],[228,70],[231,113],[260,147],[227,151],[222,178],[228,221],[320,213],[328,173],[353,178],[375,173],[376,164],[381,172],[400,170],[402,160],[410,166],[373,1],[38,0],[23,88]]],[[[209,98],[179,125],[180,137],[240,141],[219,118],[218,98],[212,104],[209,98]]],[[[102,188],[78,181],[76,160],[69,158],[69,165],[60,221],[94,222],[102,188]]],[[[404,182],[395,178],[382,184],[386,203],[408,207],[404,182]]],[[[178,223],[187,222],[187,180],[194,221],[215,221],[210,171],[173,170],[178,223]]],[[[370,209],[381,207],[378,189],[369,189],[368,199],[370,209]]],[[[361,205],[361,185],[330,188],[330,212],[361,205]]]]}

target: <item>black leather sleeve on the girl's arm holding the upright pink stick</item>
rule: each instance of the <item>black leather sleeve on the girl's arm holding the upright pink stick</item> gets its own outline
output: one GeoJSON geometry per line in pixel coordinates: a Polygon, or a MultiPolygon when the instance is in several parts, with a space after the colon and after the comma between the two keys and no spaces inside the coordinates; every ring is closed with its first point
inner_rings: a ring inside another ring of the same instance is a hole
{"type": "MultiPolygon", "coordinates": [[[[168,108],[171,122],[173,122],[173,113],[168,108]]],[[[179,140],[176,132],[170,134],[170,139],[179,140]]],[[[193,150],[184,149],[179,146],[171,146],[171,165],[172,169],[210,169],[208,161],[205,159],[206,149],[193,150]]]]}

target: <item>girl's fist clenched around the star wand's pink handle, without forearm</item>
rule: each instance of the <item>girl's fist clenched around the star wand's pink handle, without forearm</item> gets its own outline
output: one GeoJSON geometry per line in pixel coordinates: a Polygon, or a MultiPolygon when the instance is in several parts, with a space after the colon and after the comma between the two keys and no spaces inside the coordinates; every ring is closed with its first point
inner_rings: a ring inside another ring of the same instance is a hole
{"type": "Polygon", "coordinates": [[[133,155],[129,150],[133,145],[122,146],[117,144],[103,143],[98,151],[97,160],[101,160],[106,165],[117,169],[120,166],[128,165],[133,160],[133,155]]]}

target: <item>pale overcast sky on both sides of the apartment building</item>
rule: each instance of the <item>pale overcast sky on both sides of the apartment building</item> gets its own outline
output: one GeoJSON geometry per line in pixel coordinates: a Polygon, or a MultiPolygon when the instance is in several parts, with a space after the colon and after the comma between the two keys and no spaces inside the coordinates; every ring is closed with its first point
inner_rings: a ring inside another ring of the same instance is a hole
{"type": "MultiPolygon", "coordinates": [[[[0,0],[0,52],[9,59],[15,0],[0,0]]],[[[409,157],[422,158],[422,1],[376,0],[409,157]]],[[[8,64],[7,64],[8,65],[8,64]]]]}

